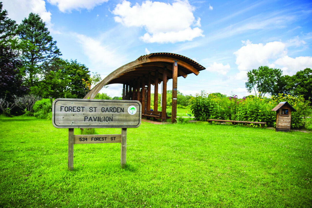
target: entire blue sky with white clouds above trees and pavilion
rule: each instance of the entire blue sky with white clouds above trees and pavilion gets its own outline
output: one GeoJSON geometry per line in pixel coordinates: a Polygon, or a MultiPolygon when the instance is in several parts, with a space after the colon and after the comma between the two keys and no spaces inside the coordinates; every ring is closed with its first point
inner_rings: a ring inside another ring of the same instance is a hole
{"type": "MultiPolygon", "coordinates": [[[[63,58],[102,78],[148,53],[191,58],[207,69],[178,78],[183,94],[243,97],[251,69],[268,65],[293,75],[312,67],[310,1],[3,0],[3,8],[17,23],[38,13],[63,58]]],[[[121,87],[102,92],[120,96],[121,87]]]]}

